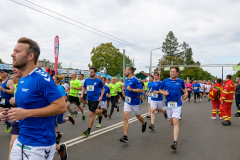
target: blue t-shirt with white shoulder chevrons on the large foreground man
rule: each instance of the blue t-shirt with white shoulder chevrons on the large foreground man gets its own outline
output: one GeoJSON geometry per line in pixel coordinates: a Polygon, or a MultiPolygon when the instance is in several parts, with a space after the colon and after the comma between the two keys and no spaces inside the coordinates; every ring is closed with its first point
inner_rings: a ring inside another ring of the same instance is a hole
{"type": "MultiPolygon", "coordinates": [[[[18,108],[38,109],[62,97],[56,83],[46,72],[36,68],[22,77],[16,91],[18,108]]],[[[28,117],[18,123],[20,143],[29,146],[51,146],[56,143],[54,116],[28,117]]]]}

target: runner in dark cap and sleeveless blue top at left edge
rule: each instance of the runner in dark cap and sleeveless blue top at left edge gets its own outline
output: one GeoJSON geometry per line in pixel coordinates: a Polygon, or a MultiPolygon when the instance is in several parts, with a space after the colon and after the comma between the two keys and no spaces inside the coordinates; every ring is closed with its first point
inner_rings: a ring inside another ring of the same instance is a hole
{"type": "MultiPolygon", "coordinates": [[[[14,84],[13,81],[8,78],[9,71],[6,69],[0,70],[0,74],[2,77],[2,84],[0,86],[0,93],[1,93],[1,103],[0,103],[0,112],[4,109],[10,109],[12,105],[9,103],[9,100],[14,97],[14,84]]],[[[11,123],[6,121],[5,124],[7,125],[5,133],[8,133],[11,130],[11,123]]]]}

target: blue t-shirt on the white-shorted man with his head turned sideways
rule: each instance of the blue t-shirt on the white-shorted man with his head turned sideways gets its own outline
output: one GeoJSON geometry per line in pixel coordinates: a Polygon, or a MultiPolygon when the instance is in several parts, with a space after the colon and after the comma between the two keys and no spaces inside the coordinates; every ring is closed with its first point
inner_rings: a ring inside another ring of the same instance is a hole
{"type": "Polygon", "coordinates": [[[136,77],[133,77],[131,79],[127,78],[125,81],[126,96],[131,97],[131,103],[129,105],[139,105],[139,93],[129,91],[127,89],[127,86],[130,86],[132,89],[143,89],[141,82],[136,77]]]}

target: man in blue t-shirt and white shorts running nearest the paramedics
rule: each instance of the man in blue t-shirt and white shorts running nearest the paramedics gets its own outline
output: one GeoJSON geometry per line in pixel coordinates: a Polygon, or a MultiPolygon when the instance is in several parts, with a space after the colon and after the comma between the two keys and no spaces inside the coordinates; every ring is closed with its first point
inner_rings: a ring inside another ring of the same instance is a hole
{"type": "Polygon", "coordinates": [[[183,80],[178,78],[179,68],[171,66],[170,67],[170,78],[165,79],[160,87],[160,93],[166,96],[166,107],[168,120],[170,125],[173,125],[173,136],[174,142],[171,145],[173,150],[177,150],[177,139],[179,134],[179,119],[181,117],[182,110],[182,93],[184,96],[183,100],[188,97],[188,92],[185,89],[183,80]]]}

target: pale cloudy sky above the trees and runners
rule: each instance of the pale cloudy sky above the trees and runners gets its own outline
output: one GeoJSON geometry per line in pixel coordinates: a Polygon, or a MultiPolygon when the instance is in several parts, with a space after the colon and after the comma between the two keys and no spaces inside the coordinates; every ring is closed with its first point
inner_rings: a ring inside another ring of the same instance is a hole
{"type": "MultiPolygon", "coordinates": [[[[54,38],[58,35],[63,67],[87,70],[92,48],[112,42],[121,52],[125,49],[130,59],[134,58],[136,72],[149,72],[146,66],[150,65],[150,51],[162,46],[169,31],[179,44],[189,44],[193,59],[201,64],[240,63],[239,0],[0,2],[0,58],[5,63],[12,63],[11,53],[20,37],[38,42],[40,59],[54,61],[54,38]]],[[[153,51],[153,66],[162,55],[161,49],[153,51]]],[[[222,77],[220,67],[203,69],[222,77]]],[[[235,72],[232,67],[225,67],[223,73],[225,77],[235,72]]]]}

